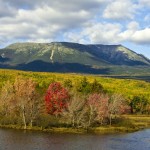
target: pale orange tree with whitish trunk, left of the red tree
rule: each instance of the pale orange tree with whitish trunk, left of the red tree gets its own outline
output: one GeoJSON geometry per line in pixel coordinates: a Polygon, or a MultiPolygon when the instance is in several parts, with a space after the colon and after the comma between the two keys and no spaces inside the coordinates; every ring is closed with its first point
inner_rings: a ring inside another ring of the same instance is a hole
{"type": "Polygon", "coordinates": [[[14,82],[14,105],[20,110],[24,129],[29,121],[32,126],[33,119],[38,113],[38,102],[35,93],[36,84],[31,79],[16,78],[14,82]]]}

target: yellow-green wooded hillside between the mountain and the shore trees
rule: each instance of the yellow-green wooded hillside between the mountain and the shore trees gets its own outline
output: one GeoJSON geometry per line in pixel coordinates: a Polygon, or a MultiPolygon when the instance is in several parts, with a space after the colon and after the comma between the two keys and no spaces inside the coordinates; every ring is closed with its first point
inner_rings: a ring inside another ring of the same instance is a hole
{"type": "MultiPolygon", "coordinates": [[[[62,74],[62,73],[46,73],[46,72],[27,72],[0,69],[0,89],[7,81],[14,82],[16,77],[31,78],[37,83],[37,88],[40,92],[46,92],[51,82],[57,81],[62,84],[66,80],[72,81],[73,87],[80,82],[84,75],[80,74],[62,74]]],[[[89,82],[93,82],[95,79],[102,84],[108,93],[118,93],[124,95],[127,99],[136,95],[143,95],[150,98],[150,83],[133,79],[114,79],[110,77],[103,77],[97,75],[86,75],[89,82]]]]}

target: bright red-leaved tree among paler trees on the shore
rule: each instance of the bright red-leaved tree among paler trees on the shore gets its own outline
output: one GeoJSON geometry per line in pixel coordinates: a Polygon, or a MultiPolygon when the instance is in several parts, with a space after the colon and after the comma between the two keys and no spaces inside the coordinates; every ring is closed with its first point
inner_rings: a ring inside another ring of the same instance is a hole
{"type": "Polygon", "coordinates": [[[47,113],[59,115],[67,108],[68,91],[58,82],[51,83],[45,95],[47,113]]]}

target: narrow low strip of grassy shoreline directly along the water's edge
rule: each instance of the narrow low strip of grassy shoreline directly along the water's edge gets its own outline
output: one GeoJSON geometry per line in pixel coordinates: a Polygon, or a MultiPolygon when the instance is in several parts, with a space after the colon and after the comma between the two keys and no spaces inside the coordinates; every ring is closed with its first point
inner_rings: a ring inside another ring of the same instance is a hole
{"type": "Polygon", "coordinates": [[[21,126],[17,125],[0,125],[1,129],[14,129],[14,130],[24,130],[24,131],[41,131],[47,133],[72,133],[72,134],[115,134],[115,133],[132,133],[140,131],[143,129],[150,129],[150,127],[115,127],[115,126],[103,126],[103,127],[94,127],[94,128],[66,128],[66,127],[51,127],[48,129],[42,129],[41,127],[27,127],[24,129],[21,126]]]}

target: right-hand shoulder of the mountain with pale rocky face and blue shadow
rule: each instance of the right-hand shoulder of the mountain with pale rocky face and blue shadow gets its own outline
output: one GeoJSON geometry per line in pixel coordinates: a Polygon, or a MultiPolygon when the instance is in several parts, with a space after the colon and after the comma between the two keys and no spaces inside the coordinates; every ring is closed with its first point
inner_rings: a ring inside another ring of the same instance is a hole
{"type": "Polygon", "coordinates": [[[95,55],[115,65],[149,65],[150,60],[122,45],[89,45],[95,55]]]}

